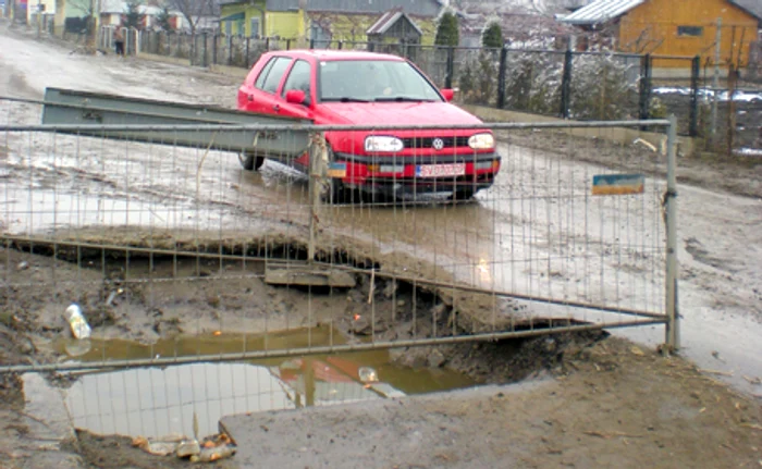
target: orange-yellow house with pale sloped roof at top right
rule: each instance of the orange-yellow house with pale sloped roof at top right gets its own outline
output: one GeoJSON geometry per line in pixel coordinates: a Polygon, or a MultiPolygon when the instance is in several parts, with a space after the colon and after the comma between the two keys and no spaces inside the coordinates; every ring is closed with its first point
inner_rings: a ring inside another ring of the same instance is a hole
{"type": "MultiPolygon", "coordinates": [[[[598,0],[561,21],[602,33],[623,52],[700,55],[702,63],[713,63],[720,18],[721,63],[740,58],[745,66],[762,15],[757,10],[762,7],[746,0],[598,0]]],[[[657,62],[662,67],[688,64],[657,62]]]]}

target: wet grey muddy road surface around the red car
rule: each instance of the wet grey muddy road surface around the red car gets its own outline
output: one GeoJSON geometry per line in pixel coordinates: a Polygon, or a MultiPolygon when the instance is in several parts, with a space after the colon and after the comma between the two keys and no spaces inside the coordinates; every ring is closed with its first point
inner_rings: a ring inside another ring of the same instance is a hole
{"type": "MultiPolygon", "coordinates": [[[[72,53],[71,46],[5,30],[0,50],[2,96],[39,99],[52,86],[230,108],[241,79],[134,58],[87,57],[72,53]]],[[[34,104],[0,102],[3,123],[37,123],[39,112],[34,104]]],[[[662,311],[664,233],[656,199],[663,181],[647,180],[652,199],[589,200],[589,178],[603,168],[575,155],[609,151],[615,160],[622,148],[577,143],[577,153],[560,158],[529,148],[532,143],[542,147],[542,135],[523,138],[520,146],[512,144],[511,135],[505,138],[508,143],[500,147],[503,171],[475,202],[324,208],[321,242],[343,247],[348,236],[364,242],[370,257],[415,255],[433,266],[434,276],[441,270],[446,277],[489,289],[662,311]],[[620,237],[627,237],[625,244],[620,237]],[[609,256],[612,249],[618,256],[609,256]]],[[[53,230],[62,236],[72,229],[128,224],[149,232],[306,233],[306,180],[276,164],[268,162],[256,174],[242,171],[232,153],[205,155],[202,149],[120,147],[49,135],[0,139],[8,232],[53,230]],[[24,174],[14,171],[19,169],[24,174]],[[34,190],[30,172],[39,185],[34,190]],[[57,210],[44,209],[51,203],[57,210]]],[[[660,159],[636,158],[646,172],[663,172],[660,159]]],[[[678,200],[685,353],[752,391],[740,377],[762,375],[762,343],[757,340],[762,334],[762,233],[757,229],[762,202],[685,184],[678,200]]],[[[597,320],[572,308],[532,309],[597,320]]],[[[661,328],[625,334],[649,345],[662,341],[661,328]]]]}

